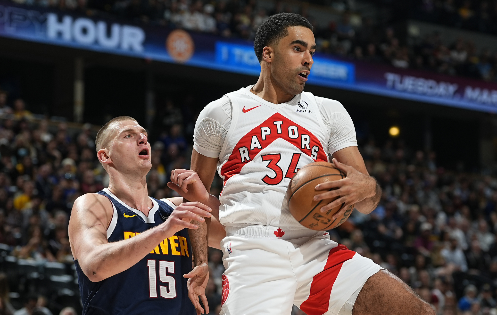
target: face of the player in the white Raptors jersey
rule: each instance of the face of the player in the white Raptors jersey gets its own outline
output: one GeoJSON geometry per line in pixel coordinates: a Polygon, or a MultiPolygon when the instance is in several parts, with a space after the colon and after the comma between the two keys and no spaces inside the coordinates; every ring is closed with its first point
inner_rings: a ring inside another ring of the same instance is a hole
{"type": "Polygon", "coordinates": [[[288,35],[279,41],[271,63],[271,74],[279,88],[289,94],[302,93],[311,73],[315,51],[316,41],[309,28],[288,27],[288,35]]]}

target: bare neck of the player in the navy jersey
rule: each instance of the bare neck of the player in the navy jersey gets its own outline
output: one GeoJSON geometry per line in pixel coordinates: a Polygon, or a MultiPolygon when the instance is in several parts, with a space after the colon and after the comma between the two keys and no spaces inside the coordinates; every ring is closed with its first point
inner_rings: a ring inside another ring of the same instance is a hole
{"type": "Polygon", "coordinates": [[[147,179],[144,176],[133,176],[122,174],[113,168],[109,168],[109,187],[122,202],[143,212],[148,216],[150,209],[154,206],[149,198],[147,179]]]}

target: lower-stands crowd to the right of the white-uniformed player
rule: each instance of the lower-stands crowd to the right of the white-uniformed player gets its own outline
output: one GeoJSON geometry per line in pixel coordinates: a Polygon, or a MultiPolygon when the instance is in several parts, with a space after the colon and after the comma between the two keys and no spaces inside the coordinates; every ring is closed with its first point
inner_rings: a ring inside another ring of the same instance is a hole
{"type": "Polygon", "coordinates": [[[402,141],[359,150],[382,200],[331,236],[398,275],[437,314],[497,314],[497,178],[444,169],[434,152],[402,141]]]}

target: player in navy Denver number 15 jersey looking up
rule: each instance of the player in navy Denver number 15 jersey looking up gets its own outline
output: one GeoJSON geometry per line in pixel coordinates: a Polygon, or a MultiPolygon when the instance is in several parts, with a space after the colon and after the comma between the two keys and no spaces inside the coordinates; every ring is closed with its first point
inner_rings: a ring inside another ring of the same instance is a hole
{"type": "Polygon", "coordinates": [[[109,187],[79,197],[69,222],[83,315],[192,315],[183,274],[191,271],[184,228],[205,222],[211,209],[182,198],[149,197],[147,132],[128,116],[106,123],[96,137],[109,187]]]}

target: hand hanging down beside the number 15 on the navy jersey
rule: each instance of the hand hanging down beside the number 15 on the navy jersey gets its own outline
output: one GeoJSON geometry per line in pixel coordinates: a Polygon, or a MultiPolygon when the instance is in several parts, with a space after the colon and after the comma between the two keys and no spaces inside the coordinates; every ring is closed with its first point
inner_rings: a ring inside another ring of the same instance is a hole
{"type": "Polygon", "coordinates": [[[188,297],[190,298],[191,303],[193,303],[197,315],[204,313],[208,314],[209,304],[207,303],[207,297],[205,296],[205,287],[207,286],[207,282],[209,282],[209,266],[206,263],[200,264],[193,268],[189,273],[183,275],[183,277],[188,278],[188,297]],[[202,300],[205,310],[198,302],[199,297],[200,300],[202,300]]]}

